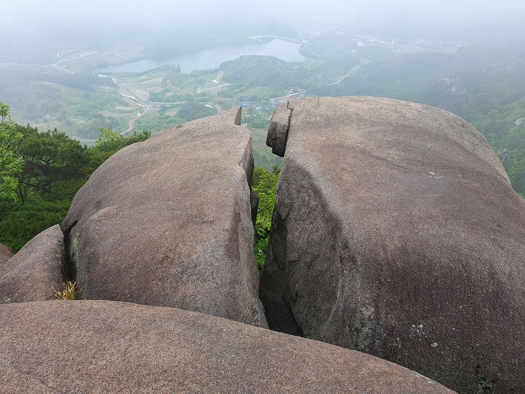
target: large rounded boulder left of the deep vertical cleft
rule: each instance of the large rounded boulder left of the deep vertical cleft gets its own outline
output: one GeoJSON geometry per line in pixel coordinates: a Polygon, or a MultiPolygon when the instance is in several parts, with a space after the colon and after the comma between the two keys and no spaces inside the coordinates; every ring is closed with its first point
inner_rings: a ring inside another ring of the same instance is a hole
{"type": "Polygon", "coordinates": [[[250,212],[251,134],[240,110],[126,147],[62,223],[83,299],[171,306],[266,326],[250,212]]]}

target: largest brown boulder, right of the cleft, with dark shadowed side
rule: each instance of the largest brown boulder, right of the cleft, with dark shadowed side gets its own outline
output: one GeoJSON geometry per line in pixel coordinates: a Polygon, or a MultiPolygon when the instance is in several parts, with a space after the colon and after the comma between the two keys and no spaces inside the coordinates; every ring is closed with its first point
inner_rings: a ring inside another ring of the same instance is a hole
{"type": "Polygon", "coordinates": [[[487,141],[415,103],[284,106],[261,283],[270,328],[458,392],[525,392],[525,202],[487,141]]]}

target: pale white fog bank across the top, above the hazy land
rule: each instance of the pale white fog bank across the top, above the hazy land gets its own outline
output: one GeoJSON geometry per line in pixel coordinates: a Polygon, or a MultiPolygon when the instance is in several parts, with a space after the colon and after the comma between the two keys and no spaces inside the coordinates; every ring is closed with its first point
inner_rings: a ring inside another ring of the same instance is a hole
{"type": "Polygon", "coordinates": [[[469,42],[525,36],[525,3],[516,1],[101,1],[22,0],[2,6],[3,58],[42,46],[99,47],[139,34],[188,41],[203,35],[293,35],[316,24],[372,25],[373,33],[469,42]]]}

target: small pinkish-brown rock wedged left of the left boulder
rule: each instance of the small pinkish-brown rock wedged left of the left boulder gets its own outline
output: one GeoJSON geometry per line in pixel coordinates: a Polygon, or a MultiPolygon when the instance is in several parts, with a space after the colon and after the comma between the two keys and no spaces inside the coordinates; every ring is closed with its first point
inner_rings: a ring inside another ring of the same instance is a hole
{"type": "Polygon", "coordinates": [[[60,226],[44,230],[0,266],[0,303],[55,299],[64,288],[64,235],[60,226]]]}

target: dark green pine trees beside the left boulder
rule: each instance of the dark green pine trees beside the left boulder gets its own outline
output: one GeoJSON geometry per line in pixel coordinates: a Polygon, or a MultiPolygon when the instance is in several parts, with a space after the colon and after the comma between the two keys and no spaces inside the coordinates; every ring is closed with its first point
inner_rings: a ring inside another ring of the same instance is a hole
{"type": "Polygon", "coordinates": [[[57,130],[38,132],[13,125],[10,133],[18,140],[10,149],[24,165],[12,175],[16,203],[0,201],[0,243],[14,252],[41,231],[60,224],[78,189],[114,152],[150,136],[143,132],[124,138],[101,127],[96,146],[88,148],[57,130]]]}

